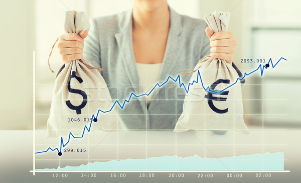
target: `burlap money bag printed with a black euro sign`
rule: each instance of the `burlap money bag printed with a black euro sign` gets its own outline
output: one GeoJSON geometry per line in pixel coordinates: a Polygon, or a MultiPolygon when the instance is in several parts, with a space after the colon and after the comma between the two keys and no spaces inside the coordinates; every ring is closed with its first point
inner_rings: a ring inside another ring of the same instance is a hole
{"type": "MultiPolygon", "coordinates": [[[[213,32],[219,32],[227,31],[229,17],[230,13],[214,12],[204,18],[213,32]]],[[[193,84],[189,86],[183,112],[174,131],[237,130],[247,133],[243,120],[241,84],[233,66],[208,55],[199,61],[191,73],[189,83],[193,84]]]]}

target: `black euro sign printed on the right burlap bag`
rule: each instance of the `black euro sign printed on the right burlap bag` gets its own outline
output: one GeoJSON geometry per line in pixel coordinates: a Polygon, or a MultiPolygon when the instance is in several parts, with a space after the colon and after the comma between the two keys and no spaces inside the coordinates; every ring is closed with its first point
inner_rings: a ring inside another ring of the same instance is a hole
{"type": "MultiPolygon", "coordinates": [[[[210,89],[211,90],[214,90],[214,88],[219,84],[219,83],[226,83],[226,84],[229,84],[230,83],[230,80],[229,79],[218,79],[216,80],[214,83],[211,84],[210,86],[210,89]]],[[[215,90],[216,92],[219,92],[218,90],[215,90]]],[[[207,92],[207,91],[206,91],[207,92]]],[[[208,90],[208,95],[205,95],[205,98],[208,99],[208,105],[209,107],[216,113],[219,113],[219,114],[223,114],[223,113],[227,113],[228,112],[228,108],[227,109],[223,109],[223,110],[220,110],[218,108],[216,108],[214,105],[213,105],[213,102],[212,101],[226,101],[227,98],[222,98],[222,97],[213,97],[212,93],[208,90]]],[[[221,92],[219,94],[216,94],[216,95],[228,95],[229,94],[229,91],[224,91],[224,92],[221,92]]]]}

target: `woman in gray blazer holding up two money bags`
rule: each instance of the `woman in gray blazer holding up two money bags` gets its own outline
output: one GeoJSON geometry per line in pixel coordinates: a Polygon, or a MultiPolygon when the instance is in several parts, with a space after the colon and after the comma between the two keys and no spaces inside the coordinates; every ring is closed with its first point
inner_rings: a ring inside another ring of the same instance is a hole
{"type": "MultiPolygon", "coordinates": [[[[206,27],[203,20],[177,14],[167,0],[134,0],[132,10],[93,19],[89,36],[88,31],[60,36],[58,49],[65,63],[84,56],[103,68],[112,99],[122,104],[131,93],[148,93],[168,76],[193,70],[210,52],[232,64],[233,35],[206,27]]],[[[181,82],[189,79],[182,76],[181,82]]],[[[149,96],[132,96],[118,113],[128,129],[174,129],[184,98],[185,90],[170,79],[149,96]]]]}

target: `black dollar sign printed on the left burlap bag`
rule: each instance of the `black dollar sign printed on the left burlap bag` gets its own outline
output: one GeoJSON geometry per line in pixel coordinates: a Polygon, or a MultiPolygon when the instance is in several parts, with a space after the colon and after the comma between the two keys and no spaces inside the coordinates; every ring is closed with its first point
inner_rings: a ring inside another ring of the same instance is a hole
{"type": "Polygon", "coordinates": [[[81,105],[79,106],[73,106],[70,102],[70,100],[66,101],[66,105],[68,106],[68,108],[72,109],[72,110],[75,110],[76,111],[76,114],[81,114],[81,109],[84,108],[87,104],[87,94],[83,91],[83,90],[80,90],[80,89],[73,89],[70,87],[70,81],[72,78],[75,78],[78,80],[79,83],[82,83],[83,82],[83,79],[76,76],[75,75],[75,71],[72,71],[72,74],[71,74],[71,77],[70,77],[70,80],[68,82],[68,90],[70,93],[74,93],[74,94],[79,94],[83,97],[83,102],[81,103],[81,105]]]}

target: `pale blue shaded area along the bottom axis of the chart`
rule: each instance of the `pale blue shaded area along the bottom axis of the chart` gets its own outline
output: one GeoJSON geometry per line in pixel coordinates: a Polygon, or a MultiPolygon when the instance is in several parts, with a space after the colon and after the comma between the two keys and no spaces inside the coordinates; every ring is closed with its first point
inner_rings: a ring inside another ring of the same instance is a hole
{"type": "Polygon", "coordinates": [[[284,154],[265,153],[224,158],[163,156],[147,159],[111,160],[80,166],[38,170],[284,170],[284,154]]]}

